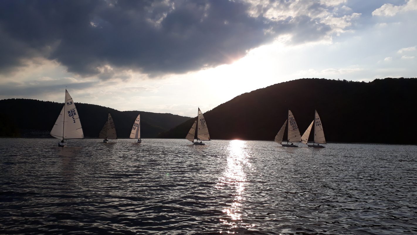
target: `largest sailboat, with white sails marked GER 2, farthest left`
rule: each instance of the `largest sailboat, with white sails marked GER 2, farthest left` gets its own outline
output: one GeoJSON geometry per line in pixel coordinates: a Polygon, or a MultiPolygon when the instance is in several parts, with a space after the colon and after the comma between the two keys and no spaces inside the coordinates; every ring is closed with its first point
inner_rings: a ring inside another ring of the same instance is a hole
{"type": "Polygon", "coordinates": [[[78,111],[67,89],[65,89],[64,106],[52,127],[50,135],[61,139],[61,142],[58,143],[58,146],[61,147],[67,145],[65,142],[66,139],[84,139],[78,111]]]}

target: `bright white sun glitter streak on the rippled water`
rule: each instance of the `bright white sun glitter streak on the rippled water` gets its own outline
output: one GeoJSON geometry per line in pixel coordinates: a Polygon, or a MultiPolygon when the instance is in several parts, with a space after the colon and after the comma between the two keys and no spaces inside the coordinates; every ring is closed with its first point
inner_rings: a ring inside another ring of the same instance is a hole
{"type": "MultiPolygon", "coordinates": [[[[248,162],[248,153],[244,150],[246,142],[241,140],[233,140],[229,145],[229,156],[227,157],[227,167],[222,177],[219,177],[219,181],[216,184],[216,188],[219,190],[227,190],[233,188],[234,198],[231,205],[223,210],[227,215],[227,219],[220,219],[223,224],[230,225],[231,228],[239,226],[253,227],[254,225],[247,225],[242,222],[241,205],[245,200],[244,190],[247,184],[246,173],[244,167],[251,168],[251,164],[248,162]]],[[[227,233],[234,233],[233,231],[222,231],[227,233]]]]}

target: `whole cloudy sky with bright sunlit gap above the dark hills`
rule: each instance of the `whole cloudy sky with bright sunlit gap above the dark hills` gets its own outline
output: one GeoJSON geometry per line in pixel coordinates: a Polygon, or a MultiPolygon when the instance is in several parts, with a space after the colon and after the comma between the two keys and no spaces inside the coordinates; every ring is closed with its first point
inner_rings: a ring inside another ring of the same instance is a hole
{"type": "Polygon", "coordinates": [[[417,0],[3,0],[0,99],[196,116],[298,78],[417,77],[417,0]]]}

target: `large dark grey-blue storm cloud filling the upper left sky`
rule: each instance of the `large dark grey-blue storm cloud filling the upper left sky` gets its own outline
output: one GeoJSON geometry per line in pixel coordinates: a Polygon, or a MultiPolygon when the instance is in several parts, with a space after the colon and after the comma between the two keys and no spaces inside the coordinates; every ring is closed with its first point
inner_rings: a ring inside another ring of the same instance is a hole
{"type": "MultiPolygon", "coordinates": [[[[184,73],[231,63],[294,29],[294,42],[317,40],[331,30],[306,15],[251,17],[249,7],[228,0],[4,0],[0,70],[42,56],[70,72],[101,74],[101,79],[113,76],[105,65],[150,74],[184,73]]],[[[317,3],[309,10],[323,9],[317,3]]]]}

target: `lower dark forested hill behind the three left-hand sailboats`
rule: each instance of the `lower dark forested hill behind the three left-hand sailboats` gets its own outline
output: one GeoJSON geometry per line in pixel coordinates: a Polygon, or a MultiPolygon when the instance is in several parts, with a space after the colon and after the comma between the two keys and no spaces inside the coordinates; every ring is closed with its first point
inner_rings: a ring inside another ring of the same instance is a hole
{"type": "MultiPolygon", "coordinates": [[[[117,136],[128,138],[135,118],[141,114],[141,136],[157,137],[189,117],[143,111],[118,111],[94,104],[75,103],[83,126],[84,136],[96,137],[107,120],[113,117],[117,136]]],[[[0,100],[0,136],[27,136],[30,130],[50,131],[63,107],[62,103],[33,99],[0,100]]],[[[29,134],[30,136],[30,134],[29,134]]]]}

